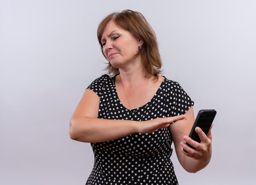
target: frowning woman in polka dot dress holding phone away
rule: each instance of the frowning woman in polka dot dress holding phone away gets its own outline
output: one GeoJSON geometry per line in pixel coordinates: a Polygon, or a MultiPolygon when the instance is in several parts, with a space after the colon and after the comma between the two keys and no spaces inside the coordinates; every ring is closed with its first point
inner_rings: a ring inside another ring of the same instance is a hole
{"type": "Polygon", "coordinates": [[[186,171],[204,168],[211,159],[211,132],[206,136],[196,128],[201,143],[187,137],[194,102],[177,82],[159,75],[155,33],[143,15],[130,10],[112,13],[97,34],[113,77],[93,81],[70,120],[70,137],[91,143],[94,152],[86,184],[177,184],[170,160],[172,141],[186,171]]]}

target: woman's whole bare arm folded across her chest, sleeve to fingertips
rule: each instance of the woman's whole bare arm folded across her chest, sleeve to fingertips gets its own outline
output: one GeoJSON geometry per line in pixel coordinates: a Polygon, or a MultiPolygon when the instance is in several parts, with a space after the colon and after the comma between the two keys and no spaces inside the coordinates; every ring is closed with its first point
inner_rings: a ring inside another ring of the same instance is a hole
{"type": "Polygon", "coordinates": [[[149,121],[98,119],[99,101],[99,97],[92,90],[85,90],[70,119],[71,139],[87,143],[110,141],[133,133],[151,133],[184,119],[184,116],[149,121]]]}

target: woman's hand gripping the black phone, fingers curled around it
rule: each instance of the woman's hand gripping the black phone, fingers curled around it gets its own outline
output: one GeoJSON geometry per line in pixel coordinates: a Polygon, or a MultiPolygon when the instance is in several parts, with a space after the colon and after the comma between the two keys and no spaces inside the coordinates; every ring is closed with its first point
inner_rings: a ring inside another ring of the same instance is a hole
{"type": "MultiPolygon", "coordinates": [[[[211,128],[212,126],[213,124],[211,125],[211,128]]],[[[207,135],[204,134],[204,132],[200,127],[195,128],[195,132],[198,133],[201,143],[194,141],[188,136],[184,136],[183,137],[184,142],[180,143],[182,153],[188,157],[191,157],[203,163],[204,162],[208,163],[211,159],[211,140],[212,140],[211,128],[207,135]],[[195,149],[190,148],[188,145],[186,145],[186,142],[192,145],[195,149]],[[184,152],[183,149],[186,150],[187,152],[184,152]]]]}

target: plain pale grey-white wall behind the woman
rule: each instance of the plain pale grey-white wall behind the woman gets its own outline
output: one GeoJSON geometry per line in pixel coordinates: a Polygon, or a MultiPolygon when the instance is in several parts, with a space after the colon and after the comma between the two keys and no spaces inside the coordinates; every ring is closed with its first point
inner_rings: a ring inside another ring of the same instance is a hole
{"type": "Polygon", "coordinates": [[[141,12],[157,35],[163,75],[200,109],[215,109],[211,163],[186,184],[256,182],[256,1],[0,0],[0,184],[83,185],[89,143],[69,137],[85,88],[106,73],[99,22],[141,12]]]}

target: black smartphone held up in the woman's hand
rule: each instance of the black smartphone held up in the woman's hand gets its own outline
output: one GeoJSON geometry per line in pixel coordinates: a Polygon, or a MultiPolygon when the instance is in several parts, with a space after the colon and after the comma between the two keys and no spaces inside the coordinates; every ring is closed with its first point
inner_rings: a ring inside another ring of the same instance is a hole
{"type": "MultiPolygon", "coordinates": [[[[196,127],[200,127],[202,131],[207,135],[210,128],[211,124],[213,122],[213,119],[216,115],[216,110],[200,110],[198,112],[197,117],[195,118],[195,123],[193,124],[191,131],[189,133],[189,137],[193,139],[194,141],[197,141],[198,143],[201,142],[200,137],[198,133],[195,132],[196,127]]],[[[189,143],[186,143],[190,148],[195,149],[193,146],[191,146],[189,143]]],[[[184,149],[183,149],[184,150],[184,149]]],[[[187,152],[184,150],[184,152],[187,152]]]]}

